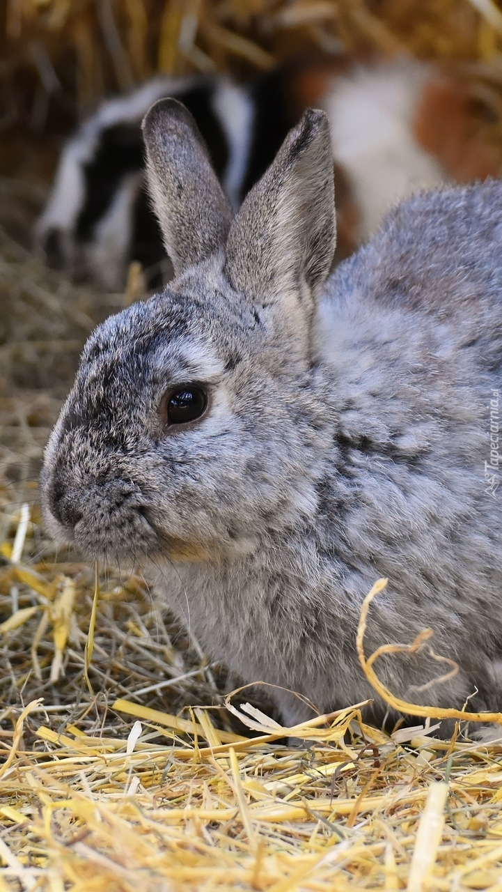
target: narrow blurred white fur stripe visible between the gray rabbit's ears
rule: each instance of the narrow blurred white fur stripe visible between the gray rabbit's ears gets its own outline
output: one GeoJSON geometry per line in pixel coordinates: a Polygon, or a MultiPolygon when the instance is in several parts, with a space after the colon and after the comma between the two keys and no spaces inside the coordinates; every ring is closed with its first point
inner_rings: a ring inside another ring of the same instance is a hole
{"type": "Polygon", "coordinates": [[[250,156],[253,105],[245,90],[226,81],[215,91],[212,106],[228,140],[229,157],[223,187],[236,211],[250,156]]]}

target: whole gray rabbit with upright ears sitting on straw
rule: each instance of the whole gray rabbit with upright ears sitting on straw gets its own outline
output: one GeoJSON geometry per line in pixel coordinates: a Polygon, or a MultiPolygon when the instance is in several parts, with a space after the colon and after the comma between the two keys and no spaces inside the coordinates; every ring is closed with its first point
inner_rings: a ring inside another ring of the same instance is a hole
{"type": "MultiPolygon", "coordinates": [[[[235,218],[193,119],[144,120],[176,278],[99,326],[45,452],[45,519],[150,565],[212,657],[288,726],[374,692],[502,707],[502,184],[417,194],[328,277],[328,123],[308,111],[235,218]],[[285,689],[285,690],[284,690],[285,689]],[[421,690],[422,689],[422,690],[421,690]]],[[[384,705],[375,701],[374,721],[384,705]]]]}

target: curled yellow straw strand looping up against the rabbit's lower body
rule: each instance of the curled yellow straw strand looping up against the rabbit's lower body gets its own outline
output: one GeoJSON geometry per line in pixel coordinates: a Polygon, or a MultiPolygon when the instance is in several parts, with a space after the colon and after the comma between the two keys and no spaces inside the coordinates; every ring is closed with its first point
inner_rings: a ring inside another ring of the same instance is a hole
{"type": "MultiPolygon", "coordinates": [[[[404,653],[404,654],[413,654],[416,653],[418,648],[420,648],[424,641],[431,638],[432,631],[430,629],[424,629],[423,632],[420,632],[416,636],[415,641],[412,644],[384,644],[381,648],[377,648],[374,651],[374,654],[371,657],[368,657],[366,660],[365,652],[363,648],[363,641],[366,632],[366,618],[369,606],[374,599],[375,595],[379,594],[385,586],[387,585],[388,580],[386,579],[378,579],[372,588],[371,591],[368,591],[366,598],[363,601],[363,605],[361,607],[361,615],[359,617],[358,624],[358,637],[356,639],[356,646],[358,648],[358,657],[359,662],[363,668],[363,672],[366,675],[367,680],[371,684],[372,688],[380,695],[380,697],[387,703],[392,709],[397,709],[400,713],[405,713],[408,715],[419,715],[422,718],[433,718],[433,719],[457,719],[457,721],[464,722],[493,722],[499,725],[502,725],[502,713],[467,713],[464,709],[441,709],[438,706],[417,706],[416,703],[407,703],[407,700],[401,700],[398,697],[394,697],[390,690],[388,690],[380,681],[374,672],[373,664],[378,659],[378,657],[383,657],[384,654],[390,653],[404,653]]],[[[446,657],[438,657],[436,654],[431,651],[432,657],[441,662],[449,663],[449,665],[453,666],[452,670],[446,675],[441,676],[440,679],[436,681],[448,681],[458,672],[458,666],[453,662],[453,660],[449,660],[446,657]]]]}

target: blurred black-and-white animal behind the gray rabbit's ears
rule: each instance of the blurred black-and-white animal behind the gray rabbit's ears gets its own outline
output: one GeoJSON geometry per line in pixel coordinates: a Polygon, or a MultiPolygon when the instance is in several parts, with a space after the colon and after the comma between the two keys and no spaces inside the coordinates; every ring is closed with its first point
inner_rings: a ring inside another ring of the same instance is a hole
{"type": "Polygon", "coordinates": [[[229,78],[156,78],[104,102],[65,145],[52,194],[36,227],[49,264],[104,287],[123,286],[139,260],[151,284],[172,269],[144,180],[141,120],[162,96],[193,114],[211,162],[236,210],[273,160],[294,122],[275,73],[248,86],[229,78]]]}

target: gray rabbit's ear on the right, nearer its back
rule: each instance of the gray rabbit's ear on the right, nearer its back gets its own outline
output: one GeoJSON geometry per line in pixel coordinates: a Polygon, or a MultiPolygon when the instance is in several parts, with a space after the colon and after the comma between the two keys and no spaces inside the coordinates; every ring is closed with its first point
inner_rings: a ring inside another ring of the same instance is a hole
{"type": "Polygon", "coordinates": [[[307,302],[335,246],[333,153],[324,111],[306,111],[230,228],[226,276],[250,297],[307,302]],[[305,294],[307,285],[308,295],[305,294]]]}

